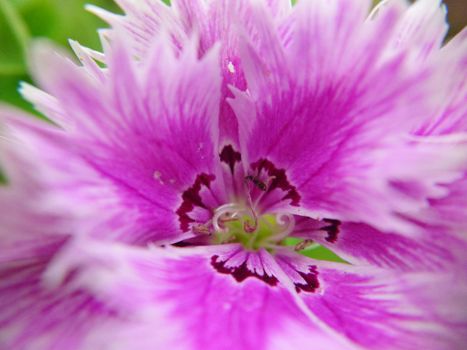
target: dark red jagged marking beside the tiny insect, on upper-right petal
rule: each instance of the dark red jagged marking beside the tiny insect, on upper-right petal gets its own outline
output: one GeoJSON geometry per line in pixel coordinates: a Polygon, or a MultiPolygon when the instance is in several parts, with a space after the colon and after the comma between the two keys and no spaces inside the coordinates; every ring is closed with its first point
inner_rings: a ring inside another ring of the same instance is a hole
{"type": "Polygon", "coordinates": [[[267,159],[260,159],[256,163],[253,163],[251,167],[261,174],[264,171],[268,178],[271,179],[267,192],[271,192],[276,188],[286,192],[286,195],[282,199],[290,199],[291,205],[299,206],[300,194],[297,188],[293,186],[287,179],[287,175],[284,169],[277,169],[274,164],[267,159]]]}

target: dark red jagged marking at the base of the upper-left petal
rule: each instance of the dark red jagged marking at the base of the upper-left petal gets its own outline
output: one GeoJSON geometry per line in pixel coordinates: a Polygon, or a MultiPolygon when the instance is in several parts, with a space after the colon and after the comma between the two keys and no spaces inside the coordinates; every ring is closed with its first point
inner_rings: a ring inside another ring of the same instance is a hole
{"type": "Polygon", "coordinates": [[[190,223],[194,222],[188,214],[195,208],[195,206],[207,209],[200,196],[200,191],[202,186],[209,188],[211,182],[214,181],[215,178],[216,177],[214,175],[200,174],[196,177],[193,186],[183,192],[183,202],[176,211],[178,220],[180,221],[180,229],[183,232],[188,231],[190,223]]]}

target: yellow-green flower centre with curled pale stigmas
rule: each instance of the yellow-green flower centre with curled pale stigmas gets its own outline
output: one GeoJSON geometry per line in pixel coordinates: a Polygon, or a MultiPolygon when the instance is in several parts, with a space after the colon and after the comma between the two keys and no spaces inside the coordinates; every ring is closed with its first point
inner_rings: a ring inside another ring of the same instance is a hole
{"type": "Polygon", "coordinates": [[[254,210],[236,204],[216,209],[212,219],[212,243],[241,243],[248,250],[274,249],[282,245],[295,225],[289,214],[258,216],[254,210]]]}

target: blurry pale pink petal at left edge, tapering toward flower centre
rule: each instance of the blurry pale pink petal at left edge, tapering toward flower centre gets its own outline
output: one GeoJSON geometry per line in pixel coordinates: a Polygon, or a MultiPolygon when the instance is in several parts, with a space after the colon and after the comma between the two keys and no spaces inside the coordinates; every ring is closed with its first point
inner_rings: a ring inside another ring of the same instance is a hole
{"type": "Polygon", "coordinates": [[[8,120],[4,146],[12,155],[2,159],[11,182],[0,196],[7,203],[2,211],[5,236],[34,243],[37,231],[90,234],[135,244],[176,237],[179,222],[173,212],[156,207],[161,215],[154,215],[146,198],[76,154],[62,130],[17,110],[2,108],[0,114],[8,120]],[[38,187],[34,191],[33,185],[38,187]]]}

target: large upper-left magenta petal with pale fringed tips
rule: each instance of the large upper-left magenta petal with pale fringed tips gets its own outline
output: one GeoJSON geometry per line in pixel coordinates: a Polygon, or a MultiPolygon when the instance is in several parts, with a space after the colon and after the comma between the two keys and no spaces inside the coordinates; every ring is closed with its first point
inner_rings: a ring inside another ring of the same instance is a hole
{"type": "MultiPolygon", "coordinates": [[[[176,57],[160,38],[152,59],[142,64],[133,62],[118,40],[107,50],[108,68],[97,78],[88,66],[75,66],[50,47],[36,48],[36,75],[54,96],[54,104],[41,109],[59,108],[67,120],[65,131],[50,131],[60,142],[37,137],[48,131],[34,128],[22,141],[50,149],[40,158],[57,172],[55,177],[74,183],[77,192],[86,191],[89,182],[100,182],[105,195],[112,192],[114,203],[101,213],[110,218],[108,227],[126,231],[127,241],[132,235],[135,242],[176,239],[186,231],[182,221],[190,203],[184,193],[199,178],[218,175],[218,51],[198,60],[196,47],[187,46],[176,57]],[[69,164],[61,159],[70,159],[69,164]]],[[[35,101],[47,103],[44,96],[35,101]]],[[[224,202],[223,190],[217,192],[206,210],[224,202]]],[[[69,193],[63,191],[63,198],[69,193]]]]}

